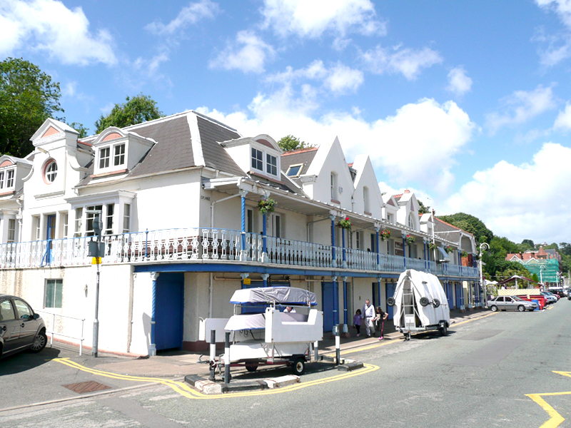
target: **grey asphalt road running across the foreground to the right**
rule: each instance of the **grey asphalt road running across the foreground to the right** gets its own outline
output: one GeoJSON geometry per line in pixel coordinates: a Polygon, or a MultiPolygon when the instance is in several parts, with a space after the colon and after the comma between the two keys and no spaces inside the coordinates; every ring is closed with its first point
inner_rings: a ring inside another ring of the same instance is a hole
{"type": "MultiPolygon", "coordinates": [[[[571,301],[562,300],[543,312],[453,325],[447,337],[379,342],[344,355],[367,369],[348,376],[314,365],[295,389],[205,398],[155,384],[0,412],[0,427],[571,427],[570,325],[571,301]]],[[[0,368],[0,408],[6,394],[46,387],[34,383],[34,370],[59,369],[0,368]]]]}

